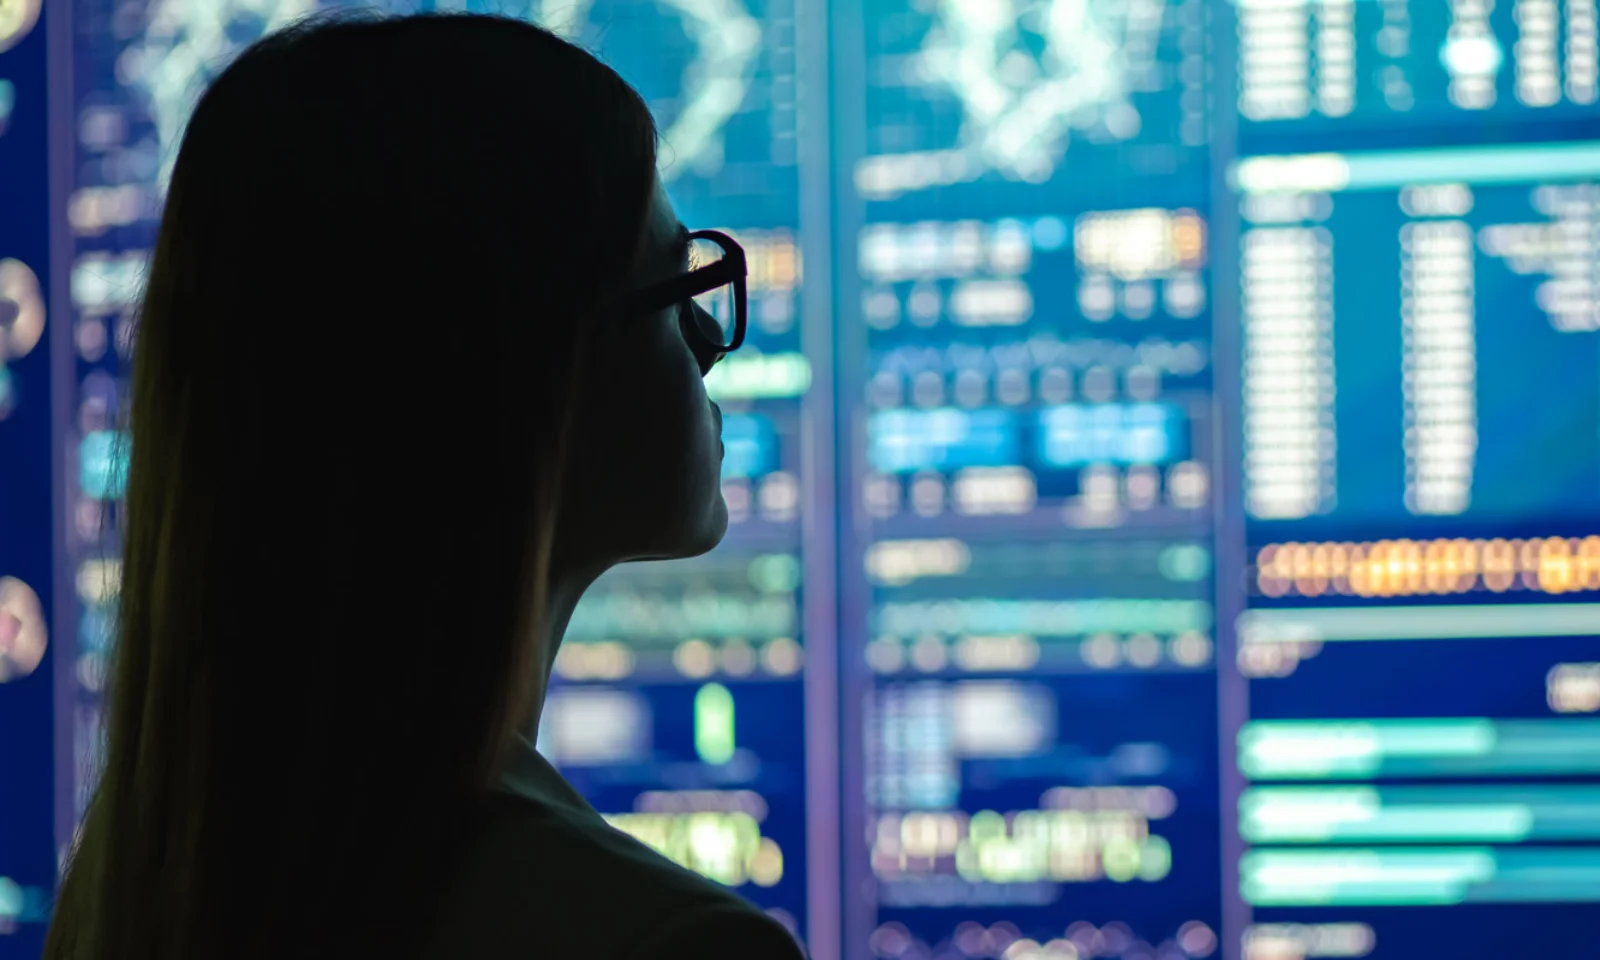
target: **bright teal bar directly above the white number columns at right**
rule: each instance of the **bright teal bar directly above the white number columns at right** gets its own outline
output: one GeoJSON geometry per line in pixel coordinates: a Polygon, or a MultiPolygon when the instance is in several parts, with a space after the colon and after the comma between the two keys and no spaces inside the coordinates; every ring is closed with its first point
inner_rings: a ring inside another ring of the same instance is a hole
{"type": "Polygon", "coordinates": [[[1584,181],[1600,176],[1600,141],[1248,157],[1230,176],[1242,194],[1584,181]]]}

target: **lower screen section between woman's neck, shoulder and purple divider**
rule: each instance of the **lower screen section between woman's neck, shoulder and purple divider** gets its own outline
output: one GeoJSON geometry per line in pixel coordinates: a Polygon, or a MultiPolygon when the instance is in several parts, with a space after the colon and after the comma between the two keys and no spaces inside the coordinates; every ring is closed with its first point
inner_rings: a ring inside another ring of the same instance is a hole
{"type": "Polygon", "coordinates": [[[803,933],[795,544],[618,568],[573,613],[539,749],[613,824],[803,933]]]}

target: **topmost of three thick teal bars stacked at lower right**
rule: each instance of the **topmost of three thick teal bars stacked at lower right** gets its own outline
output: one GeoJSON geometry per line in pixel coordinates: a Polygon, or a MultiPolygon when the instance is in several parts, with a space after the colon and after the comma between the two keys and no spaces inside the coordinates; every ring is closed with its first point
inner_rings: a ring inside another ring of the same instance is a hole
{"type": "Polygon", "coordinates": [[[1600,774],[1600,720],[1258,720],[1238,731],[1253,781],[1600,774]]]}

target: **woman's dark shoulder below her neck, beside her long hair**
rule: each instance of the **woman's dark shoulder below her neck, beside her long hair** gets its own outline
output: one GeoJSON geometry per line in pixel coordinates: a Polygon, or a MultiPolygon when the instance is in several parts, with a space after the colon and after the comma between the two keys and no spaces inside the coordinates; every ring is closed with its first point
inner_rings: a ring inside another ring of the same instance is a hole
{"type": "Polygon", "coordinates": [[[493,806],[442,894],[442,957],[798,957],[787,931],[733,891],[598,816],[525,800],[493,806]],[[789,954],[766,946],[774,933],[789,954]],[[717,939],[754,946],[696,952],[717,939]]]}

